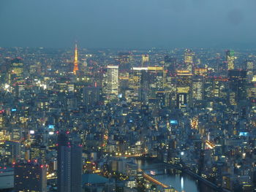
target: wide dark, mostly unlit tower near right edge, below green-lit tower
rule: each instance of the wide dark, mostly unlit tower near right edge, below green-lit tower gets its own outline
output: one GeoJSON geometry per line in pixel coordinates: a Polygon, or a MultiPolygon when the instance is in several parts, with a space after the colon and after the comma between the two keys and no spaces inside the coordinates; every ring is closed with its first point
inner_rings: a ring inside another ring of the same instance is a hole
{"type": "Polygon", "coordinates": [[[239,101],[246,99],[246,71],[229,70],[228,80],[230,104],[237,105],[239,101]]]}

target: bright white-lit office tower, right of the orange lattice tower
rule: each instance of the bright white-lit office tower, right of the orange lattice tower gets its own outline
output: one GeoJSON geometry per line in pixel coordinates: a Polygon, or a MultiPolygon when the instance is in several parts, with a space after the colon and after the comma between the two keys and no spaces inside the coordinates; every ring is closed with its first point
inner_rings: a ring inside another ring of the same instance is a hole
{"type": "Polygon", "coordinates": [[[118,66],[108,66],[107,69],[105,93],[110,99],[113,99],[118,96],[118,66]]]}

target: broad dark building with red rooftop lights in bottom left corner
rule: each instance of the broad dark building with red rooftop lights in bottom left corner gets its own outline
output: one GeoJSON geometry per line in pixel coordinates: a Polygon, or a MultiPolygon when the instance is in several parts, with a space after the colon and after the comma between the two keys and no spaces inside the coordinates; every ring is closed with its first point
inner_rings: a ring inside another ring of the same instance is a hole
{"type": "Polygon", "coordinates": [[[35,161],[15,164],[14,188],[15,191],[47,191],[47,166],[35,161]]]}

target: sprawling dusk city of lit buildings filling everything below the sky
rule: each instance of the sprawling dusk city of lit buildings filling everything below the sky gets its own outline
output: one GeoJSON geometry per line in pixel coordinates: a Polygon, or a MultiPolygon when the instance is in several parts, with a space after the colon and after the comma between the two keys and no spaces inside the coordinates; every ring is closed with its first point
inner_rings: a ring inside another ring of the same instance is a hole
{"type": "Polygon", "coordinates": [[[176,173],[203,191],[256,190],[255,62],[253,50],[0,48],[0,191],[168,192],[156,175],[176,173]]]}

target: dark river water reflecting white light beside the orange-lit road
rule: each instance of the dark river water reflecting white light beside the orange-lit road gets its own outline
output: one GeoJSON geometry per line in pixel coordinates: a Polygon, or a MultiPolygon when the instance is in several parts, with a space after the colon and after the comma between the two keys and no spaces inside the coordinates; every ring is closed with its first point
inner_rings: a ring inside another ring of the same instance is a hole
{"type": "Polygon", "coordinates": [[[190,175],[183,174],[178,170],[173,169],[171,172],[157,170],[154,168],[153,162],[140,159],[136,160],[136,164],[138,164],[139,169],[145,170],[147,174],[150,174],[150,171],[156,173],[155,175],[150,174],[151,177],[165,185],[170,185],[179,192],[217,192],[190,175]]]}

